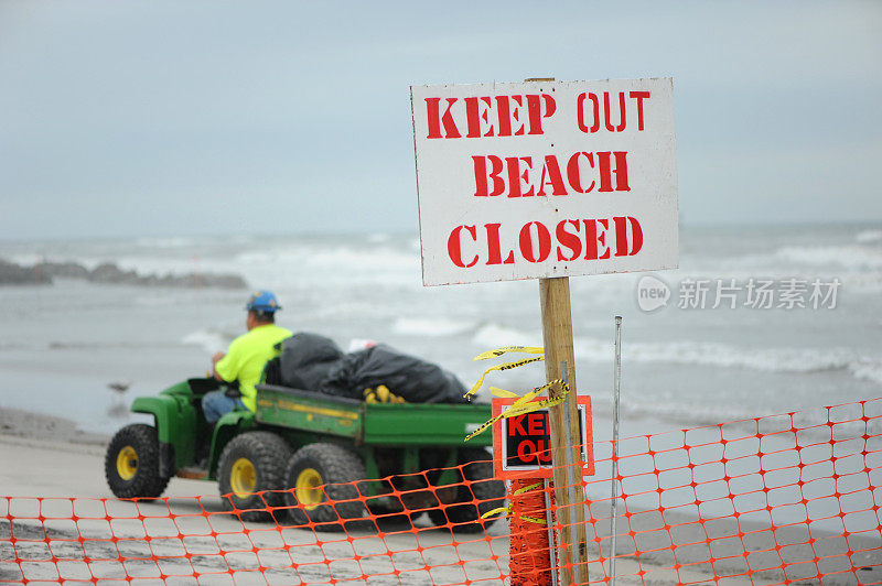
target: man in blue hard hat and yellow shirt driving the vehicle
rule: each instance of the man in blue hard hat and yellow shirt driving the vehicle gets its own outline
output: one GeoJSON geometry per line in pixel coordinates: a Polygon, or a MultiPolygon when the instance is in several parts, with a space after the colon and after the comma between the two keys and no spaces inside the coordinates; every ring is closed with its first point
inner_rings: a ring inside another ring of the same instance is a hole
{"type": "Polygon", "coordinates": [[[230,387],[202,398],[202,410],[211,424],[236,409],[255,411],[255,384],[260,380],[263,366],[279,355],[275,346],[291,336],[290,330],[276,325],[276,312],[281,307],[272,292],[258,291],[245,308],[248,311],[245,319],[248,333],[234,339],[226,354],[217,352],[212,357],[214,378],[237,382],[238,390],[230,387]]]}

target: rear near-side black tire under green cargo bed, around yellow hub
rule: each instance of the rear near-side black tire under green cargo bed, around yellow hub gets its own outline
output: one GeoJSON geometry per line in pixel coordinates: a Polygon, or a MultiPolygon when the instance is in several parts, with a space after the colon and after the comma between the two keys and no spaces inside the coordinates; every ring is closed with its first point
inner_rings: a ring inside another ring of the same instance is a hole
{"type": "Polygon", "coordinates": [[[290,507],[288,514],[294,525],[312,522],[316,523],[316,531],[341,531],[344,524],[353,525],[341,522],[341,519],[363,519],[367,514],[364,501],[355,500],[366,493],[366,484],[359,484],[367,477],[365,463],[361,456],[343,446],[316,443],[301,447],[291,456],[284,477],[287,486],[291,487],[284,492],[284,501],[290,507]],[[319,473],[321,484],[325,485],[320,502],[332,500],[334,504],[306,509],[298,502],[297,479],[306,468],[319,473]]]}

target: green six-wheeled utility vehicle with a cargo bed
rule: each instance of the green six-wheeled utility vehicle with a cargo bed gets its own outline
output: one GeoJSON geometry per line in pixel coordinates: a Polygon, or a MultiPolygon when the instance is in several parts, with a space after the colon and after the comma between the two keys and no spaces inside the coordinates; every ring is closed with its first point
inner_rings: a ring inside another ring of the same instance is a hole
{"type": "Polygon", "coordinates": [[[154,425],[127,425],[110,441],[114,495],[159,497],[173,476],[217,480],[225,507],[245,520],[269,520],[271,507],[279,522],[324,530],[427,510],[435,524],[477,531],[492,522],[481,516],[504,504],[483,447],[490,434],[463,442],[491,417],[488,404],[367,403],[258,384],[256,413],[234,411],[211,426],[201,400],[219,388],[190,379],[135,400],[131,411],[154,425]],[[386,480],[366,481],[377,478],[386,480]]]}

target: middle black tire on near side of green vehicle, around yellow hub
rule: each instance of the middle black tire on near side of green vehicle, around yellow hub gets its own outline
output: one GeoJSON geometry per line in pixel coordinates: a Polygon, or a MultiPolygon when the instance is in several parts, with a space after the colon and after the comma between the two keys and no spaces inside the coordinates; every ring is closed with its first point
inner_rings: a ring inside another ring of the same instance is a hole
{"type": "MultiPolygon", "coordinates": [[[[272,521],[268,507],[280,507],[284,488],[284,464],[291,456],[288,443],[272,432],[246,432],[227,443],[217,465],[217,486],[220,501],[228,511],[238,509],[243,521],[272,521]],[[255,489],[247,496],[236,496],[230,473],[239,458],[248,459],[255,469],[255,489]]],[[[278,511],[278,517],[284,511],[278,511]]]]}

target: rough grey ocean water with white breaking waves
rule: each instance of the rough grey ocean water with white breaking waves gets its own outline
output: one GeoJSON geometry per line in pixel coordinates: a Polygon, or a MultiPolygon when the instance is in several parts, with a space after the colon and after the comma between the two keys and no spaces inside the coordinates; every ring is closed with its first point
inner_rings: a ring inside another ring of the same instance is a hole
{"type": "MultiPolygon", "coordinates": [[[[0,241],[0,257],[238,273],[277,292],[283,326],[344,349],[384,341],[469,386],[490,366],[472,360],[478,352],[542,341],[536,281],[423,287],[417,235],[0,241]]],[[[680,269],[652,274],[670,292],[652,312],[638,304],[643,273],[570,280],[577,387],[592,397],[596,436],[609,434],[615,315],[624,318],[625,435],[882,395],[882,225],[686,227],[680,269]],[[718,280],[734,285],[725,290],[734,308],[727,296],[713,307],[718,280]],[[770,308],[746,296],[762,281],[770,308]],[[816,281],[821,296],[813,299],[816,281]],[[703,307],[690,293],[702,289],[703,307]],[[788,307],[786,295],[806,306],[788,307]]],[[[249,293],[76,280],[0,287],[0,408],[110,433],[129,420],[132,397],[205,372],[209,356],[244,333],[249,293]],[[107,387],[120,381],[131,383],[123,394],[107,387]]],[[[494,373],[485,387],[524,391],[542,378],[541,365],[530,366],[494,373]]]]}

